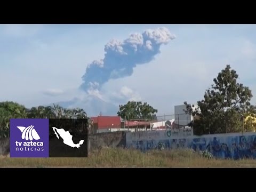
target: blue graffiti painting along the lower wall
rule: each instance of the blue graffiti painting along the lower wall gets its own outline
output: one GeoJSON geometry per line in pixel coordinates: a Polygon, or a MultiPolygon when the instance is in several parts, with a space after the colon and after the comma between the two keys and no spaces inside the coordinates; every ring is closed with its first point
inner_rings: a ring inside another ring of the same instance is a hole
{"type": "Polygon", "coordinates": [[[145,151],[154,149],[157,143],[163,143],[165,149],[191,148],[195,151],[209,151],[216,158],[256,158],[256,134],[212,137],[194,137],[180,139],[162,139],[132,141],[129,146],[145,151]]]}

